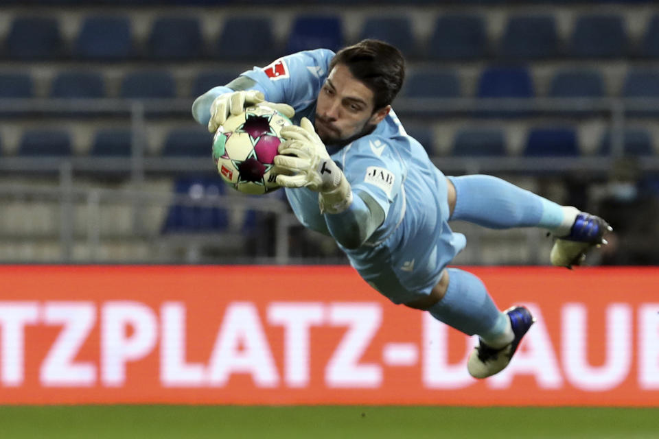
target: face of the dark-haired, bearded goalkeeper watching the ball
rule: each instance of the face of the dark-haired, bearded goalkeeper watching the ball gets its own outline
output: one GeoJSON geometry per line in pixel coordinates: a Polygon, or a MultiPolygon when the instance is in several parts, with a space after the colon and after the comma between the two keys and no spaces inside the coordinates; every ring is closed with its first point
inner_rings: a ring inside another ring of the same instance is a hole
{"type": "Polygon", "coordinates": [[[345,64],[329,72],[316,103],[314,128],[325,145],[366,134],[389,114],[391,106],[373,112],[373,91],[356,79],[345,64]]]}

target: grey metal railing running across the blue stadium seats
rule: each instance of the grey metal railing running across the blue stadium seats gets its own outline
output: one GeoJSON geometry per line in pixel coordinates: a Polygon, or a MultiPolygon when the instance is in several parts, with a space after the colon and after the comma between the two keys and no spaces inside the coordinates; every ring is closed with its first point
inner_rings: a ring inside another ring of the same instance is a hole
{"type": "MultiPolygon", "coordinates": [[[[14,183],[0,184],[0,198],[9,196],[32,196],[54,200],[59,205],[60,258],[57,262],[73,261],[72,248],[76,241],[71,217],[72,206],[84,204],[87,210],[86,246],[89,248],[89,262],[98,261],[97,249],[102,242],[97,219],[104,203],[126,202],[135,207],[133,230],[137,235],[152,242],[159,241],[159,233],[143,234],[145,228],[141,224],[140,211],[146,204],[171,206],[208,206],[226,208],[229,203],[232,209],[250,209],[275,215],[275,252],[272,257],[262,257],[264,263],[292,263],[290,257],[289,232],[290,227],[297,224],[286,203],[270,198],[227,197],[195,200],[187,195],[174,193],[157,193],[141,189],[148,174],[179,174],[179,173],[213,173],[215,166],[209,158],[172,158],[164,156],[148,156],[145,153],[144,133],[146,121],[160,116],[176,117],[192,120],[190,116],[190,99],[151,99],[133,101],[126,99],[3,99],[0,101],[0,118],[5,123],[12,123],[11,117],[19,119],[34,119],[57,117],[58,119],[77,119],[82,115],[94,114],[111,117],[126,117],[132,129],[132,153],[126,158],[108,158],[93,156],[69,156],[58,158],[0,156],[0,173],[10,176],[21,176],[26,173],[56,174],[57,183],[54,186],[17,185],[14,183]],[[79,187],[76,174],[84,173],[126,173],[131,189],[99,189],[79,187]],[[96,219],[96,220],[95,220],[96,219]]],[[[555,172],[563,174],[568,171],[579,171],[592,176],[605,176],[614,161],[624,154],[623,132],[629,115],[643,113],[643,117],[654,117],[652,112],[659,108],[659,99],[410,99],[400,98],[395,102],[397,114],[404,119],[432,121],[443,117],[493,117],[505,113],[507,120],[524,119],[527,117],[560,118],[569,113],[590,112],[608,119],[612,130],[611,152],[608,156],[581,156],[570,158],[529,158],[524,156],[505,157],[434,157],[433,161],[446,174],[483,173],[517,173],[534,174],[536,172],[555,172]]],[[[659,113],[659,111],[657,111],[659,113]]],[[[478,119],[480,120],[480,119],[478,119]]],[[[0,132],[2,128],[0,127],[0,132]]],[[[643,171],[659,171],[659,158],[650,156],[639,162],[643,171]]],[[[472,241],[478,245],[480,237],[472,241]]],[[[537,244],[536,237],[529,235],[531,242],[537,244]]],[[[537,252],[536,252],[537,253],[537,252]]],[[[476,252],[475,254],[478,254],[476,252]]],[[[531,263],[540,263],[537,254],[533,255],[531,263]]],[[[203,259],[188,262],[204,262],[203,259]]],[[[240,258],[235,259],[240,262],[240,258]]],[[[255,261],[251,259],[251,261],[255,261]]],[[[146,261],[145,261],[146,262],[146,261]]],[[[170,262],[170,261],[167,261],[170,262]]],[[[180,261],[178,261],[180,262],[180,261]]],[[[184,261],[185,262],[185,261],[184,261]]],[[[478,263],[478,256],[471,260],[478,263]]]]}

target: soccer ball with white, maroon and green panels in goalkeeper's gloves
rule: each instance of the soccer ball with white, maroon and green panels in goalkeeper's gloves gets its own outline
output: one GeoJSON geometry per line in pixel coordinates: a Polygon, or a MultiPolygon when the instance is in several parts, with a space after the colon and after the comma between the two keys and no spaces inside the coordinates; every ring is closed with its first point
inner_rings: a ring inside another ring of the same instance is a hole
{"type": "Polygon", "coordinates": [[[213,137],[213,159],[222,180],[252,195],[279,189],[273,159],[283,141],[279,131],[291,124],[288,117],[265,104],[229,117],[213,137]]]}

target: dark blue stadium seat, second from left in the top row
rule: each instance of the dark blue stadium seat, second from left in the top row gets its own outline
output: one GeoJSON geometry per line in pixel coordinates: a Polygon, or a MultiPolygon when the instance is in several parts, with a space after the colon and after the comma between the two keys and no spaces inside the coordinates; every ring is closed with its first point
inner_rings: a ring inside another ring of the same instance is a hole
{"type": "Polygon", "coordinates": [[[73,44],[73,56],[84,60],[126,60],[133,55],[126,16],[88,16],[73,44]]]}

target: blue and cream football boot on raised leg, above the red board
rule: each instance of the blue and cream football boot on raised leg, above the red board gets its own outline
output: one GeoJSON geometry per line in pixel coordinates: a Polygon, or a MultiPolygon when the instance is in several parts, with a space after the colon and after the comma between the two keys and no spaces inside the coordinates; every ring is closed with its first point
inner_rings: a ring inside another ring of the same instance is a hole
{"type": "Polygon", "coordinates": [[[549,254],[552,265],[567,268],[581,265],[588,250],[607,244],[604,235],[611,230],[611,226],[600,217],[586,212],[578,213],[570,233],[557,237],[554,242],[549,254]]]}

